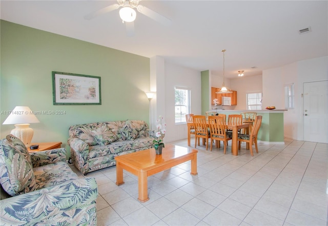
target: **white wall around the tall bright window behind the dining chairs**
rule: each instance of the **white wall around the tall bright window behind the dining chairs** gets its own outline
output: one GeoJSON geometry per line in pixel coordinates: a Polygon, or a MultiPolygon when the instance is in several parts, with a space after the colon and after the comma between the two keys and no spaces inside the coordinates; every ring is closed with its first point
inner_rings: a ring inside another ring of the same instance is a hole
{"type": "Polygon", "coordinates": [[[175,125],[174,88],[189,88],[191,90],[191,113],[201,114],[200,71],[168,63],[160,56],[151,58],[150,67],[151,91],[156,91],[156,97],[151,101],[152,125],[154,125],[152,129],[155,129],[156,119],[161,115],[167,125],[165,142],[186,139],[187,124],[175,125]]]}

